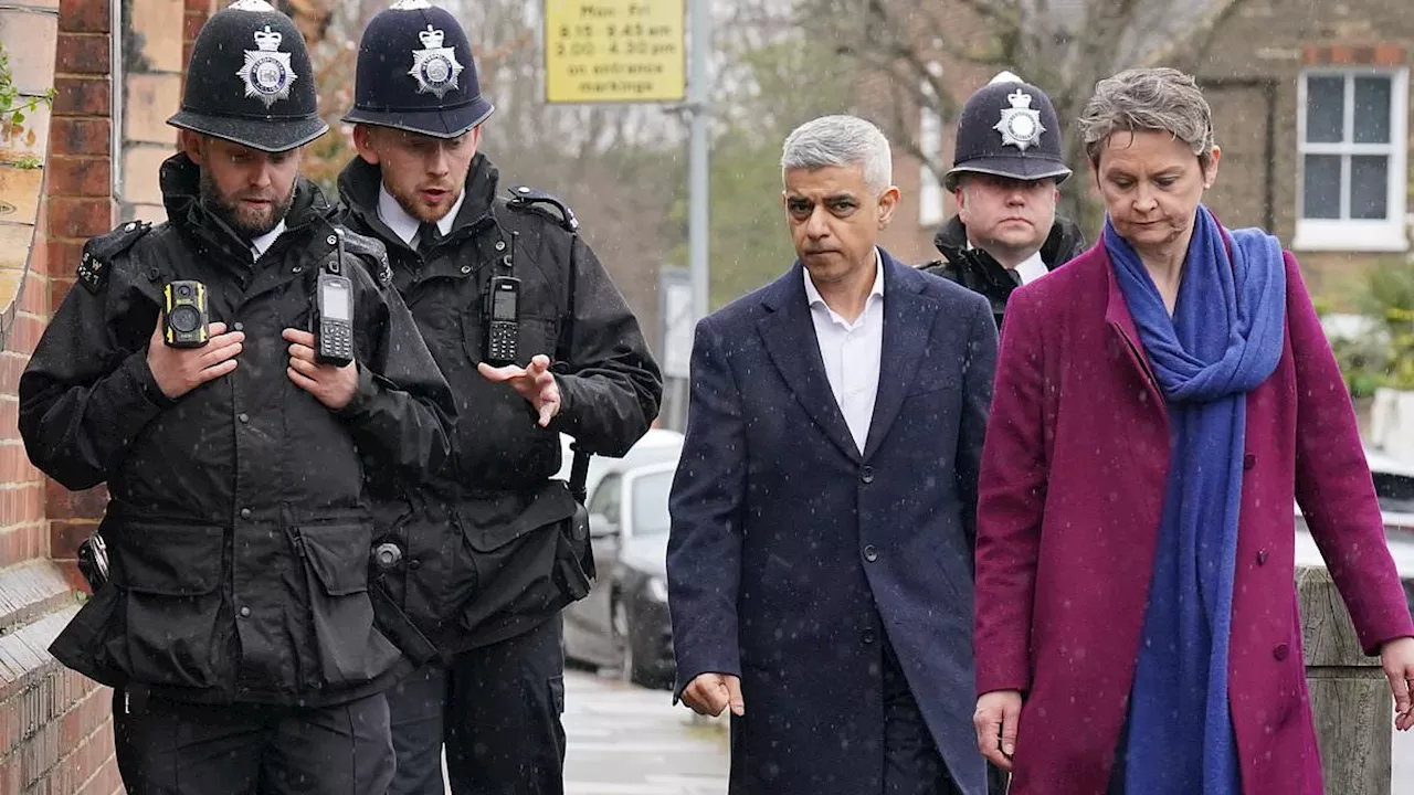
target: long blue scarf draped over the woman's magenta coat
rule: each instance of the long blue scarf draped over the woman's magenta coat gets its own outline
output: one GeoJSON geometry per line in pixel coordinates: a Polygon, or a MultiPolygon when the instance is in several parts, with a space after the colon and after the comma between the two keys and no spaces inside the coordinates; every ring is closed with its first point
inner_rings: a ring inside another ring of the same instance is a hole
{"type": "Polygon", "coordinates": [[[1104,248],[1169,410],[1172,458],[1130,702],[1124,789],[1237,795],[1227,700],[1247,392],[1285,340],[1281,245],[1227,235],[1198,208],[1169,318],[1138,253],[1104,224],[1104,248]]]}

